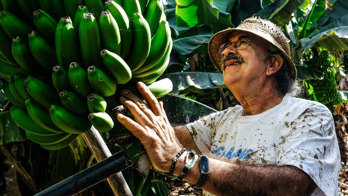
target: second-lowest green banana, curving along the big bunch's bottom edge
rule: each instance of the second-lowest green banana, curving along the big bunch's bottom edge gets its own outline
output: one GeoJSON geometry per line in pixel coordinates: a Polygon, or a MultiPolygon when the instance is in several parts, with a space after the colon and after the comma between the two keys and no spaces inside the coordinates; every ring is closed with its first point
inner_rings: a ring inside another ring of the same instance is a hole
{"type": "Polygon", "coordinates": [[[30,133],[29,131],[25,131],[26,136],[28,136],[29,140],[38,143],[38,144],[55,144],[61,142],[71,136],[69,133],[60,133],[56,135],[37,135],[30,133]]]}

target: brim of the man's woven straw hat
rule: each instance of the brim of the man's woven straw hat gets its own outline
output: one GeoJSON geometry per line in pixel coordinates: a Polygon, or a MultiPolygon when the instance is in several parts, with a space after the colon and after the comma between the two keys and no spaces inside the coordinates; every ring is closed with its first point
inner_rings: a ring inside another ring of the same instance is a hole
{"type": "Polygon", "coordinates": [[[230,38],[230,35],[232,32],[234,31],[241,31],[241,32],[248,32],[248,33],[251,33],[255,36],[258,36],[264,40],[266,40],[267,42],[269,42],[270,44],[276,46],[279,51],[281,51],[287,62],[289,63],[290,67],[291,67],[291,70],[292,70],[292,77],[296,80],[296,74],[297,74],[297,71],[296,71],[296,67],[294,65],[294,62],[292,61],[292,59],[290,58],[289,55],[287,55],[283,50],[282,48],[280,48],[279,46],[277,46],[274,41],[274,39],[269,36],[268,34],[266,33],[263,33],[263,32],[258,32],[258,33],[255,33],[253,31],[248,31],[248,30],[244,30],[244,29],[238,29],[238,28],[234,28],[234,29],[225,29],[225,30],[222,30],[220,32],[217,32],[215,33],[215,35],[212,36],[212,38],[210,38],[209,40],[209,43],[208,43],[208,53],[209,53],[209,56],[212,60],[212,62],[214,63],[215,67],[222,73],[222,70],[221,70],[221,63],[220,63],[220,60],[222,58],[222,55],[219,54],[219,48],[222,44],[228,42],[228,39],[230,38]]]}

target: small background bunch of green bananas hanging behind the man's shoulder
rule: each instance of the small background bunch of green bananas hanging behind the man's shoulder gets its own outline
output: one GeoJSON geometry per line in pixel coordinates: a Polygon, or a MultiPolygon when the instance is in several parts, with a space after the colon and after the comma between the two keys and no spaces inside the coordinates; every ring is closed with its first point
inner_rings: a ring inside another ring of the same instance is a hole
{"type": "Polygon", "coordinates": [[[334,66],[327,51],[307,51],[303,60],[308,67],[324,73],[322,80],[308,80],[313,86],[315,97],[324,105],[340,105],[342,100],[337,91],[334,66]]]}

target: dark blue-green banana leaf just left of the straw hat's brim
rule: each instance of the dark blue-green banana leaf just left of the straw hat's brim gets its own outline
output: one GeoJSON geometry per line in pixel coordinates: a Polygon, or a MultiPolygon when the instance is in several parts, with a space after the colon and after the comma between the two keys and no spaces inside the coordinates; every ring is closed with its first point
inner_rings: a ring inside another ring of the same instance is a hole
{"type": "Polygon", "coordinates": [[[212,36],[213,30],[209,25],[191,28],[173,40],[173,50],[183,55],[190,54],[199,46],[208,44],[212,36]]]}

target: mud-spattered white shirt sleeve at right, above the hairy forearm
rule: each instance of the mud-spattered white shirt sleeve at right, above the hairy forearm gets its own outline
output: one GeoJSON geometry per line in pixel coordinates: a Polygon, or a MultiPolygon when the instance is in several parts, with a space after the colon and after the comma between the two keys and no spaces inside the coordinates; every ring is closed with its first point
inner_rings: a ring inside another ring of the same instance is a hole
{"type": "Polygon", "coordinates": [[[277,165],[293,165],[306,172],[325,193],[335,193],[341,166],[332,114],[312,106],[291,123],[280,146],[277,165]]]}

